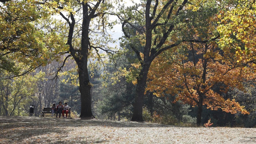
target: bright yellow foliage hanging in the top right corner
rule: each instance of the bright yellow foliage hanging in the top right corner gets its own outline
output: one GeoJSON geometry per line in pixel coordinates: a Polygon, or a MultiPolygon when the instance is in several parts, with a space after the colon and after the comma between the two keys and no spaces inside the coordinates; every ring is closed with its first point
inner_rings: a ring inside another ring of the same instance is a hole
{"type": "Polygon", "coordinates": [[[218,31],[222,35],[220,46],[236,51],[237,62],[247,63],[255,69],[256,18],[255,0],[240,0],[229,11],[220,11],[218,31]]]}

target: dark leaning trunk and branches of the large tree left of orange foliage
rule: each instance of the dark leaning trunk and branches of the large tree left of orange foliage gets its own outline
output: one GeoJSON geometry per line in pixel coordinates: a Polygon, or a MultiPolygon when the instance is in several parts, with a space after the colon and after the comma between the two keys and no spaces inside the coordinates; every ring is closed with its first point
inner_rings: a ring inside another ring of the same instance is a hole
{"type": "MultiPolygon", "coordinates": [[[[136,48],[136,46],[130,44],[132,50],[136,53],[142,68],[139,76],[137,77],[135,101],[133,104],[134,110],[133,110],[133,115],[131,119],[132,121],[143,121],[142,108],[144,105],[144,92],[145,92],[145,87],[147,83],[148,70],[151,65],[151,62],[156,58],[157,55],[161,54],[163,51],[180,44],[180,42],[177,41],[176,43],[173,43],[168,46],[164,45],[165,41],[167,40],[167,38],[169,37],[170,33],[173,31],[173,28],[174,28],[174,24],[169,24],[168,21],[172,18],[171,16],[173,15],[173,11],[174,11],[173,8],[174,8],[174,5],[176,5],[177,1],[175,2],[173,0],[167,1],[167,3],[164,5],[162,10],[160,10],[158,14],[156,14],[156,11],[158,8],[158,0],[155,1],[154,8],[152,7],[151,2],[152,0],[147,0],[145,13],[142,14],[142,15],[145,14],[145,25],[141,25],[141,26],[142,27],[145,26],[146,28],[146,31],[143,31],[143,33],[145,32],[146,34],[146,42],[145,42],[144,49],[142,51],[139,51],[136,48]],[[166,18],[164,18],[163,16],[165,14],[164,13],[165,11],[169,11],[167,12],[168,15],[166,18]],[[165,20],[164,23],[161,22],[160,20],[161,18],[164,18],[165,20]],[[157,31],[158,30],[157,27],[162,25],[166,26],[166,29],[163,31],[163,34],[159,37],[156,37],[155,40],[152,40],[152,31],[153,30],[157,31]],[[153,41],[154,43],[152,43],[153,41]],[[152,47],[152,44],[154,45],[154,47],[152,47]],[[140,56],[140,53],[143,53],[143,58],[140,56]]],[[[178,10],[176,11],[176,14],[174,15],[174,17],[177,17],[179,15],[179,12],[183,9],[184,5],[187,2],[188,0],[183,1],[183,3],[179,6],[178,10]]],[[[129,18],[128,20],[127,19],[124,20],[122,25],[124,35],[128,39],[130,39],[132,35],[130,34],[129,31],[126,31],[124,27],[130,19],[131,18],[129,18]]],[[[132,24],[132,21],[131,23],[129,23],[129,25],[131,24],[132,24]]],[[[136,25],[134,27],[136,27],[136,25]]]]}

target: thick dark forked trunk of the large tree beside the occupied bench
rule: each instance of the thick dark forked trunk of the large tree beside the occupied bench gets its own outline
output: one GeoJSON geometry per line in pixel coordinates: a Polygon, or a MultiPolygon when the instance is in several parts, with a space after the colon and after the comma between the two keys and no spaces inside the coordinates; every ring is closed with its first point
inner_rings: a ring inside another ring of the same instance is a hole
{"type": "MultiPolygon", "coordinates": [[[[100,1],[96,4],[99,6],[100,1]]],[[[89,55],[89,26],[90,21],[93,18],[94,11],[88,13],[88,4],[82,2],[83,6],[83,22],[82,22],[82,35],[81,35],[81,50],[74,49],[72,45],[72,38],[75,27],[75,18],[72,13],[70,13],[71,23],[69,23],[69,33],[68,33],[68,45],[69,52],[73,56],[78,66],[78,76],[79,76],[79,91],[81,94],[81,114],[80,118],[92,118],[92,97],[91,97],[91,84],[88,74],[87,62],[89,55]]],[[[97,9],[97,7],[96,7],[97,9]]]]}

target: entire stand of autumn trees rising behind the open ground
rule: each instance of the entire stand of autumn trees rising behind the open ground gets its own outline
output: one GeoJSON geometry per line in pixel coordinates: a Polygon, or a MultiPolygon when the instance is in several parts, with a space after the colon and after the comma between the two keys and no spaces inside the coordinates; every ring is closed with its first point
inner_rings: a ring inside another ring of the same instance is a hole
{"type": "Polygon", "coordinates": [[[3,1],[0,115],[255,127],[255,1],[121,2],[3,1]]]}

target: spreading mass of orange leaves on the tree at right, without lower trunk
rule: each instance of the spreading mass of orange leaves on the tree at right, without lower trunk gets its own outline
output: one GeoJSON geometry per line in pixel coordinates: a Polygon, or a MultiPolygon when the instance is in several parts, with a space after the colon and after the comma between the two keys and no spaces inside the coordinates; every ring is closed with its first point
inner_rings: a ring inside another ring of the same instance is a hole
{"type": "Polygon", "coordinates": [[[224,99],[213,90],[220,86],[220,92],[226,94],[232,88],[243,90],[241,83],[246,76],[252,75],[244,68],[233,68],[232,60],[220,54],[214,44],[195,44],[188,47],[199,57],[198,60],[189,61],[188,55],[172,53],[172,57],[160,55],[152,63],[148,74],[147,90],[154,91],[157,97],[165,94],[177,95],[176,101],[181,100],[185,104],[198,106],[199,99],[203,99],[203,105],[208,109],[217,110],[221,108],[224,112],[242,112],[248,114],[234,99],[224,99]],[[202,49],[208,49],[202,51],[202,49]]]}

